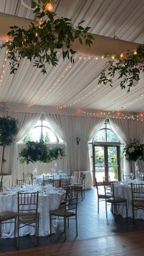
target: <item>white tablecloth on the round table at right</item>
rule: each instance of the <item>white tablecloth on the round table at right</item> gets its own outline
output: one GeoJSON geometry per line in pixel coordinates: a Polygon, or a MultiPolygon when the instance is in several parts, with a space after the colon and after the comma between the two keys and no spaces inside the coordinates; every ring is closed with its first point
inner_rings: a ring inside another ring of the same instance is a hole
{"type": "MultiPolygon", "coordinates": [[[[123,197],[127,199],[128,217],[132,218],[132,191],[131,183],[124,183],[122,181],[114,183],[115,197],[123,197]]],[[[126,218],[125,205],[117,205],[117,214],[121,214],[126,218]]],[[[144,219],[144,211],[135,211],[135,219],[144,219]]]]}

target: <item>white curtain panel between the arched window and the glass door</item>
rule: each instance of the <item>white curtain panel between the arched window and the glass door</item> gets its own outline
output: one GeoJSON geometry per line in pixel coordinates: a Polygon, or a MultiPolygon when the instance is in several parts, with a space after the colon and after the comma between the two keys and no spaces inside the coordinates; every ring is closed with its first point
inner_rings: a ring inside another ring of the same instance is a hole
{"type": "Polygon", "coordinates": [[[66,169],[68,174],[88,171],[85,187],[92,188],[88,141],[100,130],[105,119],[45,114],[54,131],[67,144],[66,169]],[[76,137],[80,139],[77,145],[76,137]]]}

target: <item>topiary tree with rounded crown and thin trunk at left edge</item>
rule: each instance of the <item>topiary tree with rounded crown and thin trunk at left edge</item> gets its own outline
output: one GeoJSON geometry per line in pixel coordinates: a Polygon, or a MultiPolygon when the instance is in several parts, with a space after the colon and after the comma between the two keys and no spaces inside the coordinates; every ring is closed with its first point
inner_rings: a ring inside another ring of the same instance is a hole
{"type": "Polygon", "coordinates": [[[1,189],[2,189],[2,177],[4,174],[4,151],[6,146],[10,146],[15,141],[15,136],[18,133],[18,120],[6,116],[0,117],[0,145],[2,147],[1,154],[1,189]]]}

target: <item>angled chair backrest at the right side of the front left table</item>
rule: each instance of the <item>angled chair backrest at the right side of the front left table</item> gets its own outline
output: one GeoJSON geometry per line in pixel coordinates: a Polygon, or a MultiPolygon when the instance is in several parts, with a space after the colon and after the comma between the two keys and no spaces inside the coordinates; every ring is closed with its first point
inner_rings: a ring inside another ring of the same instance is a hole
{"type": "Polygon", "coordinates": [[[77,211],[77,200],[79,195],[79,188],[75,186],[69,186],[66,189],[66,196],[65,196],[65,212],[67,210],[77,211]]]}

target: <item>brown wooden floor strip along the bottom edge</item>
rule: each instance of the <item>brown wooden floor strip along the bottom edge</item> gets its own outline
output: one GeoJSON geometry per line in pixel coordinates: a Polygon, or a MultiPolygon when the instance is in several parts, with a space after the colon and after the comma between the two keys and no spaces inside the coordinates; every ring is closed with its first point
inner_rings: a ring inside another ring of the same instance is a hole
{"type": "Polygon", "coordinates": [[[118,235],[88,238],[75,242],[51,244],[15,252],[4,252],[2,256],[137,256],[144,255],[144,231],[128,232],[118,235]]]}

